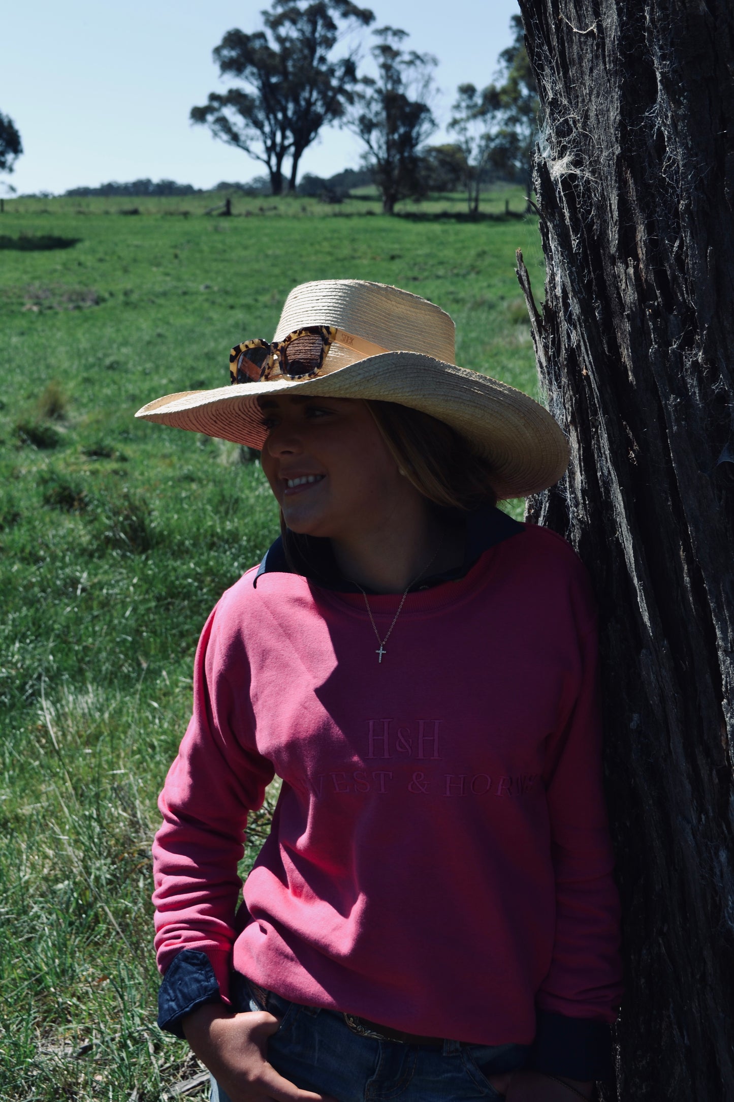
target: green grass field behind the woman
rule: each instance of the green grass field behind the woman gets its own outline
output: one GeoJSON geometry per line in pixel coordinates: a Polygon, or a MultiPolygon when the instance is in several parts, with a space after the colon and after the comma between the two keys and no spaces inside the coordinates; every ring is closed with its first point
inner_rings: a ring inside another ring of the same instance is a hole
{"type": "MultiPolygon", "coordinates": [[[[457,360],[536,392],[515,191],[461,196],[18,199],[0,215],[0,1099],[205,1098],[155,1022],[150,844],[199,630],[276,534],[259,464],[135,422],[221,386],[288,290],[361,278],[457,322],[457,360]],[[505,199],[515,216],[505,217],[505,199]],[[138,215],[123,212],[138,208],[138,215]],[[186,213],[188,212],[188,213],[186,213]],[[45,240],[39,240],[44,238],[45,240]],[[30,245],[56,247],[28,248],[30,245]]],[[[511,504],[517,515],[519,503],[511,504]]],[[[243,872],[267,811],[258,817],[243,872]]]]}

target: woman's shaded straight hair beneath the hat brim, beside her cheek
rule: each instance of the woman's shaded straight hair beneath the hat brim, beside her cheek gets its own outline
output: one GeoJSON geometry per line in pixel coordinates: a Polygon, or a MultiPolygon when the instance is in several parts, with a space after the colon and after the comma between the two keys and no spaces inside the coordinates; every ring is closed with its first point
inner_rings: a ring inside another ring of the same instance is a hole
{"type": "Polygon", "coordinates": [[[450,425],[396,402],[365,401],[401,473],[429,501],[465,512],[496,505],[492,468],[450,425]]]}

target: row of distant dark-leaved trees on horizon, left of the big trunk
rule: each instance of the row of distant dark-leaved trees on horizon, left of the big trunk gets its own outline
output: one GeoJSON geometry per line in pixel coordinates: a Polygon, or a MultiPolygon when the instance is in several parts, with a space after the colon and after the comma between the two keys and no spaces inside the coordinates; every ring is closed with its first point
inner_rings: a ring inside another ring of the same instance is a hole
{"type": "MultiPolygon", "coordinates": [[[[351,0],[272,0],[261,15],[264,30],[228,31],[213,51],[220,76],[234,77],[238,86],[211,93],[191,108],[190,119],[261,161],[271,194],[299,190],[304,151],[321,127],[337,122],[361,139],[364,170],[387,214],[399,199],[435,190],[437,181],[463,186],[471,213],[490,179],[521,180],[529,195],[538,96],[519,15],[512,17],[514,40],[500,55],[497,82],[481,90],[469,83],[458,88],[449,123],[457,140],[432,148],[426,143],[437,129],[437,60],[405,48],[407,32],[373,31],[376,76],[369,76],[358,73],[353,44],[354,33],[374,21],[369,9],[351,0]],[[335,58],[344,37],[352,45],[335,58]]],[[[311,192],[317,179],[307,184],[311,192]]],[[[321,186],[318,194],[338,202],[340,193],[321,186]]]]}

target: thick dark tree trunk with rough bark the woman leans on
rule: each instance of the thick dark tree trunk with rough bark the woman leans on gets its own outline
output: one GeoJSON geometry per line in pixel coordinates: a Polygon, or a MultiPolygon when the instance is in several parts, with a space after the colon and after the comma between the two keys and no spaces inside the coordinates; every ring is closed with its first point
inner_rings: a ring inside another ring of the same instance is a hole
{"type": "MultiPolygon", "coordinates": [[[[519,0],[546,134],[530,500],[601,607],[624,1102],[734,1099],[734,7],[519,0]]],[[[521,279],[525,273],[521,264],[521,279]]]]}

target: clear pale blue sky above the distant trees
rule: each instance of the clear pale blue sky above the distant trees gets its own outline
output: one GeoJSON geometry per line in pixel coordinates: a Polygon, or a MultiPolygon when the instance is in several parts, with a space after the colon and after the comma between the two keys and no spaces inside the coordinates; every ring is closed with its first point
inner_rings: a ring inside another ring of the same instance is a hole
{"type": "MultiPolygon", "coordinates": [[[[439,122],[456,86],[492,78],[511,40],[516,0],[361,0],[375,26],[408,31],[406,44],[439,58],[439,122]]],[[[233,0],[36,0],[3,11],[0,110],[25,152],[12,175],[19,193],[58,193],[109,180],[167,177],[197,187],[264,171],[242,151],[191,127],[188,112],[226,87],[211,50],[233,26],[260,25],[262,2],[233,0]]],[[[370,35],[364,35],[365,45],[370,35]]],[[[439,132],[434,140],[440,140],[439,132]]],[[[330,175],[359,163],[343,130],[325,130],[302,172],[330,175]]],[[[0,186],[0,194],[4,191],[0,186]]]]}

